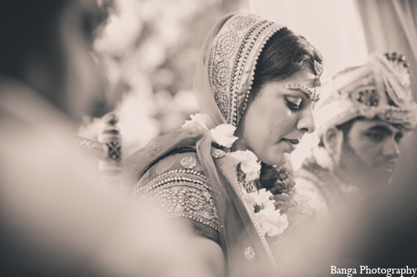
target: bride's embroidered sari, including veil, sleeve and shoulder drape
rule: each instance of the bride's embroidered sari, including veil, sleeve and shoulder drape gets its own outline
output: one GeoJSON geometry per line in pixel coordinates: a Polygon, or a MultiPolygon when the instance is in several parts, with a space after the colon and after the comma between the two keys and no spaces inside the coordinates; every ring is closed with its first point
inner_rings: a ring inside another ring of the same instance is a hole
{"type": "MultiPolygon", "coordinates": [[[[282,28],[231,13],[208,33],[194,79],[200,111],[211,118],[208,129],[238,126],[263,45],[282,28]]],[[[152,139],[125,160],[122,185],[134,202],[165,218],[186,219],[197,234],[217,242],[228,276],[269,276],[275,261],[253,207],[243,199],[238,162],[213,146],[208,129],[181,128],[152,139]]]]}

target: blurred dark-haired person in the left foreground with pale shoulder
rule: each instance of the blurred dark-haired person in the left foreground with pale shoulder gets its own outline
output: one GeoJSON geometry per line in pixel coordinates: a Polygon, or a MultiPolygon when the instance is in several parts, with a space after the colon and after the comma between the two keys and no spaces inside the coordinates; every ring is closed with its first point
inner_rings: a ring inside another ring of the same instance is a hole
{"type": "Polygon", "coordinates": [[[73,144],[108,111],[90,55],[90,0],[0,9],[0,276],[206,276],[167,223],[98,186],[73,144]]]}

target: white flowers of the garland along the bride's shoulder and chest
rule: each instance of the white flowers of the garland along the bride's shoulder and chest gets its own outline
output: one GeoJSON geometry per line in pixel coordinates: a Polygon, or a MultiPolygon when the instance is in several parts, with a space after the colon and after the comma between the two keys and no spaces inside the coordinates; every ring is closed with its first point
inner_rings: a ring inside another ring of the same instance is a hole
{"type": "MultiPolygon", "coordinates": [[[[213,126],[210,116],[204,113],[196,113],[190,116],[191,120],[186,120],[182,128],[209,129],[213,126]]],[[[231,145],[238,139],[234,136],[236,127],[230,124],[218,125],[210,129],[211,137],[215,143],[224,148],[231,148],[231,145]]],[[[234,157],[240,165],[240,169],[245,173],[245,181],[259,179],[261,173],[261,161],[250,150],[235,151],[228,153],[234,157]]],[[[280,235],[288,228],[288,219],[286,214],[281,214],[279,209],[275,208],[275,200],[272,199],[272,193],[266,189],[260,189],[252,193],[244,190],[245,199],[254,208],[256,221],[261,226],[263,235],[274,237],[280,235]]]]}

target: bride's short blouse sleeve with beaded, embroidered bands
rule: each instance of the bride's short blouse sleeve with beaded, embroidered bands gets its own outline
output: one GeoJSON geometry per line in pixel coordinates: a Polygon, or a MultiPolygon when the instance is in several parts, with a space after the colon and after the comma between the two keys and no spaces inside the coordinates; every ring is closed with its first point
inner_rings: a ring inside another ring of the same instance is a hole
{"type": "Polygon", "coordinates": [[[165,219],[185,218],[193,230],[220,245],[218,210],[195,152],[170,155],[143,175],[132,193],[165,219]]]}

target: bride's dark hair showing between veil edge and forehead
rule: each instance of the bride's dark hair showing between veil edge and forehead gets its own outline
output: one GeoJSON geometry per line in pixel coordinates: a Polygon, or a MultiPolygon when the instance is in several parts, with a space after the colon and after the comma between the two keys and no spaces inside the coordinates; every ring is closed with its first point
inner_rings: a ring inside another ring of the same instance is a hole
{"type": "MultiPolygon", "coordinates": [[[[314,71],[314,61],[323,64],[320,52],[305,38],[286,28],[272,35],[259,56],[252,93],[256,95],[268,81],[281,81],[308,65],[314,71]]],[[[252,94],[251,93],[251,94],[252,94]]]]}

